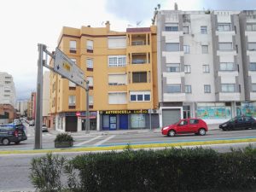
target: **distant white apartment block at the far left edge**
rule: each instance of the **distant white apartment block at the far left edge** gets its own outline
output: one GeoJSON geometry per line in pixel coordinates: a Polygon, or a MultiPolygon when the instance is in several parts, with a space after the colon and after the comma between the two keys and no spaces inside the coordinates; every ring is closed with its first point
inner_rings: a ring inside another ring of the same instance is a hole
{"type": "Polygon", "coordinates": [[[15,108],[16,92],[13,77],[0,72],[0,104],[10,104],[15,108]]]}

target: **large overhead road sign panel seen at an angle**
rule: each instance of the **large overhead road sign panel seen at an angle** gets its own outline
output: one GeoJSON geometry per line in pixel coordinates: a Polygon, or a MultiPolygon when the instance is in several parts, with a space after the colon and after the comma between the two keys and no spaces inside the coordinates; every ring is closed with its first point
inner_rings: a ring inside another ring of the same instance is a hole
{"type": "Polygon", "coordinates": [[[55,49],[54,71],[79,86],[84,85],[84,72],[60,49],[55,49]]]}

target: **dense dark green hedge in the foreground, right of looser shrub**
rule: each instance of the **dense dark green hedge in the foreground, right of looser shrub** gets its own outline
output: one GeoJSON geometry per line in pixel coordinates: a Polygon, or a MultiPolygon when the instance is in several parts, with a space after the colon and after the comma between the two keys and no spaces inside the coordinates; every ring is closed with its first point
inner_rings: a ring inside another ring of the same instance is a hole
{"type": "Polygon", "coordinates": [[[78,191],[232,191],[256,188],[256,150],[219,154],[212,149],[126,149],[83,154],[71,161],[78,191]]]}

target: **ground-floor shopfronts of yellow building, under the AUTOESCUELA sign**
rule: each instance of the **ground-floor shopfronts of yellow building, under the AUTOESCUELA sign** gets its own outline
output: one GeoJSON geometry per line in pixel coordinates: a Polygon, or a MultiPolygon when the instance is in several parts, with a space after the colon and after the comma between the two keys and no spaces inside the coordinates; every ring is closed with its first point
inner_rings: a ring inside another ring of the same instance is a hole
{"type": "MultiPolygon", "coordinates": [[[[86,112],[66,112],[51,115],[51,127],[56,131],[86,131],[86,112]]],[[[154,129],[159,127],[156,110],[107,110],[90,112],[90,131],[154,129]]]]}

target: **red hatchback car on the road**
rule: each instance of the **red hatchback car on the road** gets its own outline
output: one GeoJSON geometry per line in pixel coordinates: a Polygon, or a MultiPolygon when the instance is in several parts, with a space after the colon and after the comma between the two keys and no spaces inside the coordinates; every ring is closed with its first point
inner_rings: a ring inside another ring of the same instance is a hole
{"type": "Polygon", "coordinates": [[[174,137],[176,134],[195,133],[204,136],[208,131],[208,126],[202,119],[180,119],[173,125],[167,125],[162,128],[162,134],[174,137]]]}

